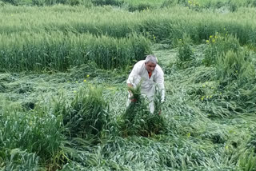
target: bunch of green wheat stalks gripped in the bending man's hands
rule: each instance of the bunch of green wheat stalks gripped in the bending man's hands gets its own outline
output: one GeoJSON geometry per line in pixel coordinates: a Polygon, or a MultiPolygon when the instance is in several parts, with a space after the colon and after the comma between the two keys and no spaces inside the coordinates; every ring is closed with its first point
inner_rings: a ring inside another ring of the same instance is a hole
{"type": "Polygon", "coordinates": [[[133,99],[121,116],[122,135],[141,135],[150,137],[153,134],[162,133],[166,129],[166,122],[161,113],[161,102],[154,100],[154,113],[150,113],[149,102],[141,94],[141,86],[129,88],[133,99]]]}

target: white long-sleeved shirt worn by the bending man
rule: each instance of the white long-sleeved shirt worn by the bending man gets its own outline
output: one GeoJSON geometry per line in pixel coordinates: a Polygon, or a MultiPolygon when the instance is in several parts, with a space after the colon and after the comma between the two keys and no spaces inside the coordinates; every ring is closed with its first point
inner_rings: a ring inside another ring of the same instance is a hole
{"type": "Polygon", "coordinates": [[[154,97],[155,85],[157,84],[158,88],[162,92],[161,101],[164,101],[164,73],[161,67],[156,65],[150,77],[146,70],[145,62],[145,60],[142,60],[134,65],[133,70],[130,72],[129,78],[127,79],[127,84],[131,84],[136,87],[136,85],[138,85],[138,83],[142,81],[141,91],[149,98],[154,97]]]}

